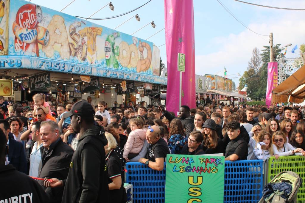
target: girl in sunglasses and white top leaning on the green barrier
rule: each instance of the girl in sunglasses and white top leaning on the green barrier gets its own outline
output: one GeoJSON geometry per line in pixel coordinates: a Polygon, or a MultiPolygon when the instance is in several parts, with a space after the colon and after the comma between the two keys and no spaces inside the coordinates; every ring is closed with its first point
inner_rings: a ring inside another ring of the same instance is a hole
{"type": "Polygon", "coordinates": [[[274,134],[272,135],[272,143],[275,159],[278,159],[279,156],[305,155],[303,149],[294,148],[287,142],[286,135],[283,131],[274,132],[274,134]]]}

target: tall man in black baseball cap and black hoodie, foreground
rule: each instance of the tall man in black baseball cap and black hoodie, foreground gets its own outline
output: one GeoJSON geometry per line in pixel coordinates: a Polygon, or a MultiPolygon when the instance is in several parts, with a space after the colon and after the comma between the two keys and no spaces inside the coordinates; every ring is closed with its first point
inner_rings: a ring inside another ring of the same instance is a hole
{"type": "Polygon", "coordinates": [[[107,139],[103,128],[94,125],[95,111],[86,101],[75,103],[70,112],[71,125],[80,133],[66,180],[45,180],[47,187],[63,187],[62,202],[108,202],[108,180],[105,167],[107,139]]]}

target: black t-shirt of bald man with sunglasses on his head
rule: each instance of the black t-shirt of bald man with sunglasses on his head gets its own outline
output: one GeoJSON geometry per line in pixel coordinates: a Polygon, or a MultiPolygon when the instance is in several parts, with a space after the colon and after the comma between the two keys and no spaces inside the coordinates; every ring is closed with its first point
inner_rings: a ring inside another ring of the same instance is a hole
{"type": "Polygon", "coordinates": [[[146,159],[156,162],[156,158],[164,158],[166,161],[166,155],[170,154],[170,149],[163,138],[160,138],[155,144],[150,144],[147,148],[146,159]]]}

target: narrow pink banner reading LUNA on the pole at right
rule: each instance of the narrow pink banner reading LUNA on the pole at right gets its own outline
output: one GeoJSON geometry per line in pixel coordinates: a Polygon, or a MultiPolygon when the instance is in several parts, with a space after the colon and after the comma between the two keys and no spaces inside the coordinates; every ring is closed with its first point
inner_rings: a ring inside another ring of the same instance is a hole
{"type": "Polygon", "coordinates": [[[272,89],[278,86],[278,62],[268,63],[268,79],[267,79],[267,91],[266,91],[266,105],[271,104],[272,89]]]}

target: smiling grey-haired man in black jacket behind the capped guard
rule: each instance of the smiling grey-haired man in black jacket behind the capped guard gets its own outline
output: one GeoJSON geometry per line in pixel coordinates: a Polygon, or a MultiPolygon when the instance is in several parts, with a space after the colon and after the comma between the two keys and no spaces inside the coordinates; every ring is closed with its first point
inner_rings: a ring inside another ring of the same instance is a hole
{"type": "MultiPolygon", "coordinates": [[[[66,179],[74,150],[64,143],[59,134],[59,126],[54,121],[44,121],[40,125],[42,141],[41,162],[39,164],[39,178],[66,179]]],[[[44,186],[43,180],[38,183],[44,188],[50,202],[61,202],[63,188],[50,188],[44,186]]]]}

